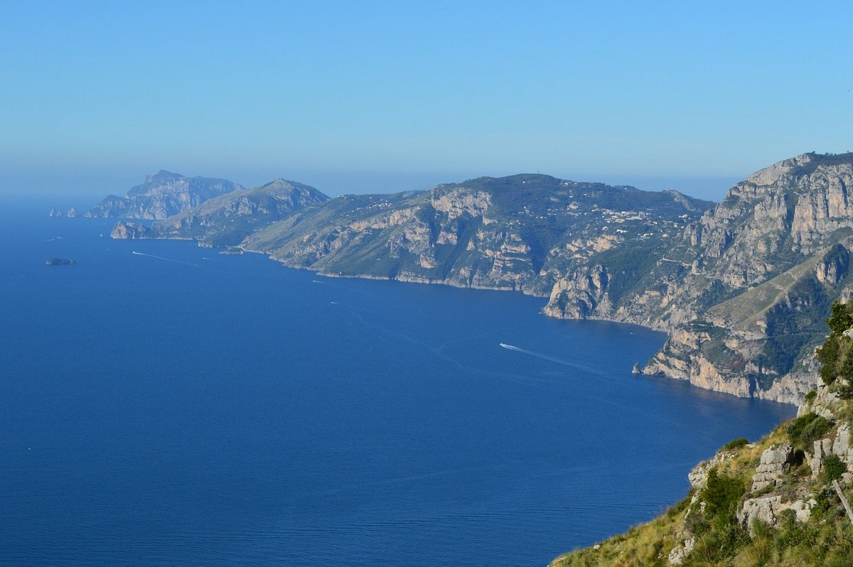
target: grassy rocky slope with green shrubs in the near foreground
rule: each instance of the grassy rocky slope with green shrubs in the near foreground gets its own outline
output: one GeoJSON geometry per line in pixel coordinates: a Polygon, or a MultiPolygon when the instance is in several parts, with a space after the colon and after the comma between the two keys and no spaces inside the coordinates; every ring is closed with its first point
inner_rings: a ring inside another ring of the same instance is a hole
{"type": "Polygon", "coordinates": [[[832,333],[817,353],[825,384],[796,419],[757,443],[727,443],[690,472],[688,496],[659,518],[553,567],[853,564],[853,517],[842,500],[853,497],[853,302],[832,310],[832,333]]]}

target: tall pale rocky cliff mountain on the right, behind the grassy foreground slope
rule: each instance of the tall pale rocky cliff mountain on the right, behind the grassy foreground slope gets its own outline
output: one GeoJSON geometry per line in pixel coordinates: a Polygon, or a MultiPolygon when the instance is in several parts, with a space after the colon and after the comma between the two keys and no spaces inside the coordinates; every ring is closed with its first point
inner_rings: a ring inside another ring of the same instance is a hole
{"type": "Polygon", "coordinates": [[[645,373],[798,402],[813,385],[801,370],[823,336],[829,304],[850,286],[851,182],[853,154],[806,153],[771,165],[736,184],[635,273],[637,286],[623,299],[602,301],[607,286],[590,294],[571,275],[556,282],[545,312],[669,331],[645,373]]]}

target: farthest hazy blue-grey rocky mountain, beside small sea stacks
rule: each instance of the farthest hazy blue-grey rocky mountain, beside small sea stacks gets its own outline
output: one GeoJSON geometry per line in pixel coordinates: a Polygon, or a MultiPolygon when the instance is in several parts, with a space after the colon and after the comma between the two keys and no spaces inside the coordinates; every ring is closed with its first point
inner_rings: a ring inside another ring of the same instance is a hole
{"type": "Polygon", "coordinates": [[[242,187],[225,179],[186,177],[170,171],[149,175],[125,197],[109,195],[85,217],[165,219],[242,187]]]}

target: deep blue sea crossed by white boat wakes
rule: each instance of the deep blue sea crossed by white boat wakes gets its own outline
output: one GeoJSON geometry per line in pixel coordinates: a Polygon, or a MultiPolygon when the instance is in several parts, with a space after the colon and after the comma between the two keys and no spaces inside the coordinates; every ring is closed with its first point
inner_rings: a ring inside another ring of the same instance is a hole
{"type": "Polygon", "coordinates": [[[542,298],[111,240],[57,204],[0,200],[0,564],[544,565],[794,414],[632,376],[663,334],[542,298]]]}

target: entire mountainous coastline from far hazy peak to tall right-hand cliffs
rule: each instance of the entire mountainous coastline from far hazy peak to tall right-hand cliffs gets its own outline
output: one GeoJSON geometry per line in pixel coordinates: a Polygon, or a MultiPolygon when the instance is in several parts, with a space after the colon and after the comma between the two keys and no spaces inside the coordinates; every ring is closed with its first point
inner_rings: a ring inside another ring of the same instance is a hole
{"type": "Polygon", "coordinates": [[[833,298],[850,295],[853,154],[804,153],[715,205],[676,191],[543,175],[345,195],[276,180],[245,189],[166,171],[87,216],[115,238],[235,246],[325,275],[548,297],[546,315],[670,333],[645,373],[797,402],[833,298]]]}

